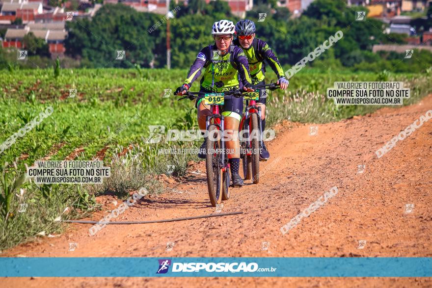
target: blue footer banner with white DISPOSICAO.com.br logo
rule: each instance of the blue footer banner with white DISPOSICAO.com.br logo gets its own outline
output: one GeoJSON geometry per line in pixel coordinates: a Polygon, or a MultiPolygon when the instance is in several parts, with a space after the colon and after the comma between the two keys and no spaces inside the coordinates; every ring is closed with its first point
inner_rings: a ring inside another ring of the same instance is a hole
{"type": "Polygon", "coordinates": [[[0,277],[432,277],[432,258],[0,258],[0,277]]]}

